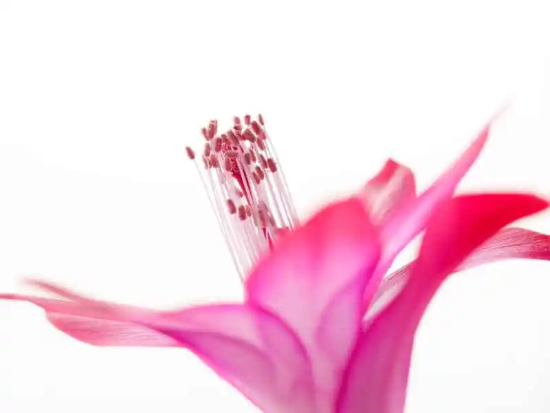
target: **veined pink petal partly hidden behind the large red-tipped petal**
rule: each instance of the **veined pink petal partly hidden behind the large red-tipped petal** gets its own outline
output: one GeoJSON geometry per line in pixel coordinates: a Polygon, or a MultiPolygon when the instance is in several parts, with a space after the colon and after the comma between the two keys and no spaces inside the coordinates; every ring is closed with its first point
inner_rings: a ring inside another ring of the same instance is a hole
{"type": "MultiPolygon", "coordinates": [[[[476,248],[455,272],[513,258],[550,260],[550,235],[522,228],[505,228],[476,248]]],[[[367,313],[367,319],[371,319],[390,304],[406,284],[413,265],[414,262],[410,262],[382,280],[367,313]]]]}

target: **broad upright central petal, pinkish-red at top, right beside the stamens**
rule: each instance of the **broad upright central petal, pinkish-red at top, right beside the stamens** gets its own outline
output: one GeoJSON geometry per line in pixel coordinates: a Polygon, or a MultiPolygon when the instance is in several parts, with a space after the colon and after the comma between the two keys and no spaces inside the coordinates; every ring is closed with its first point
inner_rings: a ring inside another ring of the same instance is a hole
{"type": "Polygon", "coordinates": [[[248,301],[287,321],[305,344],[325,405],[358,335],[362,294],[378,255],[375,229],[353,198],[290,233],[248,278],[248,301]]]}

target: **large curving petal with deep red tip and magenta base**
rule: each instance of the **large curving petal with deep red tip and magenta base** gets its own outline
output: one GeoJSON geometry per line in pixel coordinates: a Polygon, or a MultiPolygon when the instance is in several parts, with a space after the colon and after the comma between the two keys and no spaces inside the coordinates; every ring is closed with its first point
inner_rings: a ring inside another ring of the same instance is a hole
{"type": "Polygon", "coordinates": [[[439,286],[503,226],[547,206],[531,195],[470,195],[437,211],[408,283],[362,333],[336,411],[402,413],[415,331],[439,286]]]}

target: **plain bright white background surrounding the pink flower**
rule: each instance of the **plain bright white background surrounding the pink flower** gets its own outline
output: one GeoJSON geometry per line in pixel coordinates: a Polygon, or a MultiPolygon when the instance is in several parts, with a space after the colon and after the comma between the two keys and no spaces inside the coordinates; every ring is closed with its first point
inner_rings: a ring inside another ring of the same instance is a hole
{"type": "MultiPolygon", "coordinates": [[[[184,154],[233,114],[264,114],[307,216],[387,156],[426,187],[516,96],[461,190],[550,195],[543,3],[0,0],[0,289],[239,297],[184,154]]],[[[454,276],[419,330],[408,412],[548,412],[549,293],[545,262],[454,276]]],[[[93,348],[0,303],[0,411],[54,410],[254,407],[184,350],[93,348]]]]}

